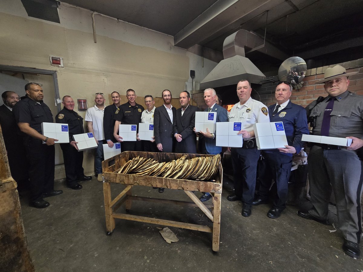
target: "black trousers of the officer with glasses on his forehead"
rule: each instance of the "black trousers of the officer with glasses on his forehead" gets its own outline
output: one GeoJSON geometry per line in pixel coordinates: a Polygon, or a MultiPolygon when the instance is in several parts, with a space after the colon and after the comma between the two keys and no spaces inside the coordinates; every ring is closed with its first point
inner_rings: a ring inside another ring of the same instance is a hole
{"type": "Polygon", "coordinates": [[[54,145],[29,137],[25,151],[29,166],[30,201],[40,201],[43,193],[54,190],[54,145]]]}

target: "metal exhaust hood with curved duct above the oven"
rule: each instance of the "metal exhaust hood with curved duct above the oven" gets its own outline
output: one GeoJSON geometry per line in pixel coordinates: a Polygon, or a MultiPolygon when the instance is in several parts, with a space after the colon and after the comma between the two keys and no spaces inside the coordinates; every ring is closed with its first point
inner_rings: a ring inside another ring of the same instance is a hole
{"type": "Polygon", "coordinates": [[[223,42],[224,59],[200,82],[200,89],[237,84],[241,79],[261,84],[266,77],[260,69],[245,57],[244,46],[254,48],[275,58],[286,59],[287,55],[247,30],[241,29],[229,35],[223,42]]]}

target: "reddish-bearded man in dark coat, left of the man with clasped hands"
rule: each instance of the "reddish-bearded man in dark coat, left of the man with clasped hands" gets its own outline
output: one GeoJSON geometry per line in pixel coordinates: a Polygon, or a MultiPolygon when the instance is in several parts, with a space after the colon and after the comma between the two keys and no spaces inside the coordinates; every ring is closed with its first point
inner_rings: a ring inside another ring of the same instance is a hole
{"type": "MultiPolygon", "coordinates": [[[[175,120],[176,109],[171,105],[171,92],[162,91],[161,94],[164,104],[155,108],[154,112],[154,137],[156,148],[161,152],[173,152],[173,123],[175,120]]],[[[153,187],[156,189],[157,187],[153,187]]],[[[159,193],[163,193],[164,188],[159,188],[159,193]]]]}

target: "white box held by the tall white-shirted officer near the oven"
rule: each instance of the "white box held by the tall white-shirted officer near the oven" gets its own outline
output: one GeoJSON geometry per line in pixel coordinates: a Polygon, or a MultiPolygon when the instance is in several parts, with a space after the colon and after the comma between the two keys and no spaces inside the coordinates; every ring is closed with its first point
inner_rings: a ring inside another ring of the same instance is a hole
{"type": "Polygon", "coordinates": [[[217,147],[242,147],[241,122],[217,122],[216,123],[216,146],[217,147]]]}

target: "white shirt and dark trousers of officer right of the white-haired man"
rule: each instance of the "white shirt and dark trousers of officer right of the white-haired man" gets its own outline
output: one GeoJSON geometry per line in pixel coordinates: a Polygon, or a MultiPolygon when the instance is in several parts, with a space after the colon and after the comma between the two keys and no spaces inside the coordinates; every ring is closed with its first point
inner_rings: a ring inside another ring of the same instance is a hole
{"type": "MultiPolygon", "coordinates": [[[[264,104],[249,98],[243,105],[238,102],[232,107],[228,121],[241,122],[241,130],[253,131],[254,123],[269,122],[270,118],[264,104]]],[[[231,148],[234,194],[242,198],[246,206],[251,206],[253,202],[260,154],[254,137],[243,139],[241,148],[231,148]]]]}

